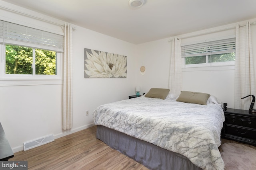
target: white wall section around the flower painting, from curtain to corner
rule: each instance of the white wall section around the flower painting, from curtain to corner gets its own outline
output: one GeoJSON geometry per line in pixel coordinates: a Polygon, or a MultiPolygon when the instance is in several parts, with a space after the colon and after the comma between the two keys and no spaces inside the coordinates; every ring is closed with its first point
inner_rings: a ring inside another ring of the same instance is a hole
{"type": "Polygon", "coordinates": [[[73,119],[80,127],[92,125],[92,113],[97,106],[128,99],[135,94],[135,45],[78,26],[73,39],[73,111],[76,113],[73,119]],[[84,78],[84,48],[127,56],[127,78],[84,78]],[[89,110],[89,116],[85,116],[86,110],[89,110]]]}

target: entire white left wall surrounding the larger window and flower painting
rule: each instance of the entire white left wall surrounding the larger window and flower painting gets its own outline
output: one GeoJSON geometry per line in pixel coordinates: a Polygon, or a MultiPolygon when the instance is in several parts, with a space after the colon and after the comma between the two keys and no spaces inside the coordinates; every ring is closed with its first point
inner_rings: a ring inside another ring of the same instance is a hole
{"type": "MultiPolygon", "coordinates": [[[[64,25],[64,21],[0,2],[8,8],[64,25]]],[[[54,24],[2,8],[0,20],[62,31],[61,27],[54,24]]],[[[73,128],[62,130],[62,84],[0,86],[0,122],[14,152],[23,150],[23,143],[27,141],[50,134],[58,138],[86,129],[93,125],[92,113],[97,106],[128,99],[128,96],[135,94],[135,45],[73,26],[76,27],[73,31],[73,128]],[[84,48],[127,56],[127,78],[84,78],[84,48]],[[86,110],[89,116],[85,115],[86,110]]],[[[0,55],[2,59],[2,53],[0,55]]]]}

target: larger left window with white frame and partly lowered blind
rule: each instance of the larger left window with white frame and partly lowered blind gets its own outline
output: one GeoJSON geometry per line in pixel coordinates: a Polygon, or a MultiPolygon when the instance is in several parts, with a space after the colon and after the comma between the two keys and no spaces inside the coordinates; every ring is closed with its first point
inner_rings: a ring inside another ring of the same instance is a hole
{"type": "Polygon", "coordinates": [[[64,36],[0,20],[0,78],[61,79],[64,36]]]}

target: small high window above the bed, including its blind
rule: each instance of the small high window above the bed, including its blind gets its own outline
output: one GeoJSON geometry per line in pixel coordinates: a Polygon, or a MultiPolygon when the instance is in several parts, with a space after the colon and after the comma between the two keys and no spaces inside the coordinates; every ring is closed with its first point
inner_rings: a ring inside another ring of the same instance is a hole
{"type": "Polygon", "coordinates": [[[182,59],[184,67],[232,65],[235,51],[235,38],[206,41],[182,46],[182,59]]]}

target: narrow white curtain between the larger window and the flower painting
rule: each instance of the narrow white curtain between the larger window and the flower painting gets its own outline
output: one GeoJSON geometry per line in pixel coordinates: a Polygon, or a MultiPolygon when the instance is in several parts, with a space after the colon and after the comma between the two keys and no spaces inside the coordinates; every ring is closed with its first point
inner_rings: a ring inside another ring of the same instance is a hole
{"type": "Polygon", "coordinates": [[[73,125],[73,52],[72,25],[65,23],[64,72],[62,92],[62,129],[71,129],[73,125]]]}

